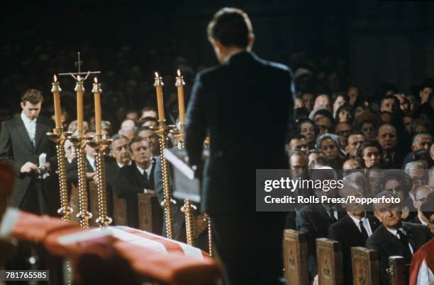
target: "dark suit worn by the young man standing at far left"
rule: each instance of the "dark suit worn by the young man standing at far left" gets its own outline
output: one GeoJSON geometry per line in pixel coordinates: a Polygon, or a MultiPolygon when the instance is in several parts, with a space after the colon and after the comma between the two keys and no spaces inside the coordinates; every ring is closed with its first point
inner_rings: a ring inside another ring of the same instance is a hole
{"type": "Polygon", "coordinates": [[[53,164],[55,160],[55,144],[48,139],[47,132],[52,132],[53,122],[45,117],[36,120],[35,146],[24,126],[21,115],[4,122],[0,132],[0,160],[13,163],[16,182],[11,194],[11,205],[23,211],[35,214],[47,214],[52,195],[44,186],[45,181],[38,179],[36,173],[21,173],[24,163],[30,161],[38,165],[40,153],[47,153],[47,161],[53,164]]]}

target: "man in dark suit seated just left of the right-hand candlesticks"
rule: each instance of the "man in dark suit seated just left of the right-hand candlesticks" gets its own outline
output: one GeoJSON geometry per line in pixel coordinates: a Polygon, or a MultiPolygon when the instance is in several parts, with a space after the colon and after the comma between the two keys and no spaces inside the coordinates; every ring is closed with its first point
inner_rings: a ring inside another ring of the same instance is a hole
{"type": "Polygon", "coordinates": [[[150,159],[149,143],[146,139],[135,138],[130,141],[130,152],[133,163],[124,165],[116,175],[114,190],[118,197],[127,202],[128,226],[138,228],[138,199],[139,193],[154,194],[154,168],[150,159]]]}

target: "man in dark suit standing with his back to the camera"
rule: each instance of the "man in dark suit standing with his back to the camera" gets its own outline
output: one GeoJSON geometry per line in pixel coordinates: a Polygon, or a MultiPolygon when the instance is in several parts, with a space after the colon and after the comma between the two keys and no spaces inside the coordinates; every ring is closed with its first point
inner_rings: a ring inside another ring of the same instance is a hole
{"type": "Polygon", "coordinates": [[[288,168],[291,71],[250,51],[252,25],[239,9],[218,11],[208,40],[220,65],[196,77],[185,128],[191,165],[201,165],[207,132],[211,139],[201,212],[211,216],[228,284],[279,284],[284,213],[256,213],[255,175],[256,169],[288,168]],[[262,119],[253,123],[258,112],[262,119]]]}

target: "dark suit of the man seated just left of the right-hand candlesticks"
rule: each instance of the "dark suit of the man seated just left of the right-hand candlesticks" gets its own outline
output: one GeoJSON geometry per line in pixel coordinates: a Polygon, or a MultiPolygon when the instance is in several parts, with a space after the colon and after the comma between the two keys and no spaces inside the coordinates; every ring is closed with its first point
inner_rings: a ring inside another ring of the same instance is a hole
{"type": "MultiPolygon", "coordinates": [[[[152,168],[150,178],[154,175],[155,166],[152,168]]],[[[154,189],[152,180],[145,178],[138,170],[135,163],[124,165],[114,180],[114,191],[120,198],[126,199],[128,226],[138,228],[138,199],[137,194],[145,189],[154,189]]]]}

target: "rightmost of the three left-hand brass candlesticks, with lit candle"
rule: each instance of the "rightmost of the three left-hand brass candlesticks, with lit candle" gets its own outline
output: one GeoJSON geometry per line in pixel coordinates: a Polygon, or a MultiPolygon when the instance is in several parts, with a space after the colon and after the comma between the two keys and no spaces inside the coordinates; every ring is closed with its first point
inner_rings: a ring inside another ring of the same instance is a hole
{"type": "Polygon", "coordinates": [[[102,139],[101,136],[101,84],[98,83],[96,78],[93,87],[96,136],[94,140],[88,141],[88,144],[96,151],[96,176],[98,177],[96,184],[98,188],[98,218],[96,219],[96,223],[102,228],[111,224],[111,218],[107,216],[106,164],[104,163],[104,153],[106,147],[111,144],[111,139],[102,139]]]}

